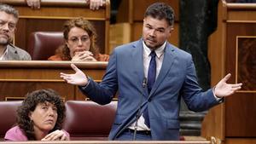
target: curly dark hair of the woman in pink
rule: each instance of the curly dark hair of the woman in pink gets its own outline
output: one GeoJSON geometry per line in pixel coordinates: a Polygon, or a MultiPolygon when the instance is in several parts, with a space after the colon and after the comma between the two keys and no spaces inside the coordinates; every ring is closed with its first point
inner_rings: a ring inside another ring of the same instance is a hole
{"type": "Polygon", "coordinates": [[[53,89],[39,89],[26,95],[26,99],[17,110],[17,124],[26,134],[28,140],[36,140],[33,129],[33,122],[29,118],[29,113],[33,112],[39,103],[49,102],[57,107],[58,118],[53,130],[61,130],[64,118],[66,117],[66,109],[60,95],[53,89]]]}

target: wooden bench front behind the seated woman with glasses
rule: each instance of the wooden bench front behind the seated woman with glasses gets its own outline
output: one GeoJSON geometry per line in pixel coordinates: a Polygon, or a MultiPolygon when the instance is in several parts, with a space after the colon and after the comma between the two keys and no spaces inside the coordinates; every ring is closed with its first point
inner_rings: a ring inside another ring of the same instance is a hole
{"type": "Polygon", "coordinates": [[[0,0],[13,5],[20,13],[15,33],[15,45],[26,49],[31,32],[62,31],[63,23],[75,17],[84,17],[93,22],[98,34],[97,44],[102,54],[109,53],[110,1],[99,10],[90,10],[84,0],[41,0],[40,9],[31,9],[25,0],[0,0]]]}

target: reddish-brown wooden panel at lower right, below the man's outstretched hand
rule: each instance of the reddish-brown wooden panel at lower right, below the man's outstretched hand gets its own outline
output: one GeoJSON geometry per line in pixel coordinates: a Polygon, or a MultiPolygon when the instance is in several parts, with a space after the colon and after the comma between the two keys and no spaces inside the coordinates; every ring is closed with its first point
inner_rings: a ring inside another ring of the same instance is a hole
{"type": "Polygon", "coordinates": [[[256,93],[237,93],[225,101],[226,137],[256,137],[256,93]]]}

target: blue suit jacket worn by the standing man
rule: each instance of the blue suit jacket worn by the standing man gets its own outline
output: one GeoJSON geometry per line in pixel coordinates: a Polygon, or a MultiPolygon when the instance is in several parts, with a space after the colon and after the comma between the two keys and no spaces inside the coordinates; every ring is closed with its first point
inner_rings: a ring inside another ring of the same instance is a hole
{"type": "MultiPolygon", "coordinates": [[[[218,104],[212,89],[202,92],[197,83],[191,55],[166,43],[164,60],[158,78],[148,94],[143,88],[143,40],[128,43],[113,50],[107,72],[101,84],[90,79],[81,91],[99,104],[108,104],[119,90],[116,117],[109,139],[114,140],[148,105],[153,140],[179,140],[180,100],[190,110],[205,111],[218,104]]],[[[103,120],[103,119],[102,119],[103,120]]]]}

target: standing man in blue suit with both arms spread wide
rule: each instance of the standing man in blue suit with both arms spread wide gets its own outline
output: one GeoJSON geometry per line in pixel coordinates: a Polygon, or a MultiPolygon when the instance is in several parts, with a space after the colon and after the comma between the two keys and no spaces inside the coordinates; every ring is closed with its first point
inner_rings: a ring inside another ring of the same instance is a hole
{"type": "Polygon", "coordinates": [[[241,84],[226,84],[228,74],[202,92],[191,55],[167,42],[173,23],[172,8],[154,3],[144,15],[143,38],[113,50],[102,83],[73,64],[74,74],[61,73],[68,84],[79,85],[84,95],[102,105],[119,90],[110,140],[179,140],[181,97],[190,110],[201,112],[241,89],[241,84]]]}

